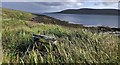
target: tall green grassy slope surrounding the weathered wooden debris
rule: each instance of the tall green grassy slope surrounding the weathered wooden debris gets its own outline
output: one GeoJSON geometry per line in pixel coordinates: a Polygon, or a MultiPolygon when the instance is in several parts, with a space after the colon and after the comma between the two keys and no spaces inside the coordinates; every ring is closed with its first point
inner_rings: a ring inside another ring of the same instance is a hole
{"type": "Polygon", "coordinates": [[[91,33],[82,28],[69,28],[59,25],[28,21],[36,15],[16,10],[3,9],[2,44],[3,63],[110,63],[117,62],[118,41],[114,35],[91,33]],[[45,56],[32,50],[22,59],[32,34],[45,34],[57,37],[55,53],[48,50],[45,56]]]}

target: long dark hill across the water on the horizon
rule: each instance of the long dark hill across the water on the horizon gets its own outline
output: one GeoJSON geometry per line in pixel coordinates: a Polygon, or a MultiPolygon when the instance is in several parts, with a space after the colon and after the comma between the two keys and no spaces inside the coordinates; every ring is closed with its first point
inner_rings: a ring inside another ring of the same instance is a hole
{"type": "Polygon", "coordinates": [[[67,9],[60,12],[54,13],[64,13],[64,14],[98,14],[98,15],[118,15],[120,10],[117,9],[67,9]]]}

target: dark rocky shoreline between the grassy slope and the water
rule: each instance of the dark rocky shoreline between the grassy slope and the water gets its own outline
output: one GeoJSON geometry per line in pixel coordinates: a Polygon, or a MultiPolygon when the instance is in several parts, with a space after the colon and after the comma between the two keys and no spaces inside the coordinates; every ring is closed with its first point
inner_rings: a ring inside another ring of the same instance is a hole
{"type": "Polygon", "coordinates": [[[51,16],[47,16],[44,14],[34,14],[36,17],[30,19],[30,21],[37,22],[37,23],[44,23],[44,24],[56,24],[60,26],[65,26],[65,27],[73,27],[73,28],[86,28],[91,31],[97,31],[97,32],[120,32],[120,28],[117,27],[109,27],[109,26],[86,26],[83,24],[76,24],[76,23],[70,23],[69,21],[63,21],[60,19],[56,19],[51,16]]]}

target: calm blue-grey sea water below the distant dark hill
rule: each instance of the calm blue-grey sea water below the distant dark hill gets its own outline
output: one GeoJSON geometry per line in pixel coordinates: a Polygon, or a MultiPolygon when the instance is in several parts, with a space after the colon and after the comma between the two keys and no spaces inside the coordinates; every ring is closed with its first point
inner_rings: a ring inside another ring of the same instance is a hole
{"type": "Polygon", "coordinates": [[[85,26],[118,27],[118,16],[114,15],[86,15],[86,14],[44,14],[70,23],[85,26]]]}

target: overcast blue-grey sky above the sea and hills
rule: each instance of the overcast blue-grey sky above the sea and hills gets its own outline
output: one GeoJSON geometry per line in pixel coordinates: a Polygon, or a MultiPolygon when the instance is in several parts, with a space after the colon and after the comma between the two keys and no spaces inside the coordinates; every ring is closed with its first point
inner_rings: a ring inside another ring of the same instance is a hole
{"type": "MultiPolygon", "coordinates": [[[[73,1],[73,0],[71,0],[73,1]]],[[[77,0],[75,0],[77,1],[77,0]]],[[[118,9],[118,2],[2,2],[3,8],[12,8],[34,13],[56,12],[65,9],[118,9]]]]}

